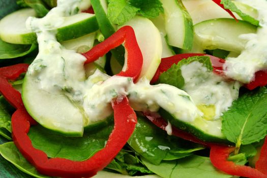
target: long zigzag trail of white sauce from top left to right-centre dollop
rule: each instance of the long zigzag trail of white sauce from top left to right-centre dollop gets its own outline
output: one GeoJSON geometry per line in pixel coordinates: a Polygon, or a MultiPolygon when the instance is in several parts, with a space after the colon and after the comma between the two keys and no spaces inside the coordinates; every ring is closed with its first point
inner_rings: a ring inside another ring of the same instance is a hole
{"type": "MultiPolygon", "coordinates": [[[[55,29],[64,23],[65,16],[88,8],[90,4],[84,2],[88,1],[58,1],[58,6],[47,16],[41,19],[31,17],[26,24],[37,33],[39,43],[39,54],[29,67],[27,76],[38,83],[38,90],[65,95],[79,108],[85,120],[103,120],[112,113],[112,100],[120,100],[122,96],[128,96],[134,110],[158,111],[161,107],[184,122],[194,122],[203,116],[197,107],[200,104],[214,105],[215,118],[219,118],[238,97],[237,82],[223,81],[207,72],[200,63],[182,67],[186,92],[167,84],[150,85],[146,79],[134,83],[129,77],[110,77],[98,70],[86,78],[85,57],[65,49],[55,38],[55,29]]],[[[171,134],[170,124],[166,130],[171,134]]]]}

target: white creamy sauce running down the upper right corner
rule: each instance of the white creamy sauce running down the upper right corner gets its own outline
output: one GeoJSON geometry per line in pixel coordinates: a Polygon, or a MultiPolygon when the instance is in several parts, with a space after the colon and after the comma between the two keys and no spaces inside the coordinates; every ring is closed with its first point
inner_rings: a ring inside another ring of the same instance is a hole
{"type": "Polygon", "coordinates": [[[258,27],[256,34],[243,34],[240,38],[247,40],[245,50],[238,57],[229,57],[224,65],[226,75],[243,83],[254,79],[255,72],[267,69],[267,1],[240,0],[240,2],[258,10],[258,27]]]}

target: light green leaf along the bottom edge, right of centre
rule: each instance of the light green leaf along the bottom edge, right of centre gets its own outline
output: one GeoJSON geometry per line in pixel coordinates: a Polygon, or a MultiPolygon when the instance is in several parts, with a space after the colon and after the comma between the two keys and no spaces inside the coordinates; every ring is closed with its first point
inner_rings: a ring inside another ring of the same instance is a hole
{"type": "Polygon", "coordinates": [[[174,161],[163,161],[159,165],[154,165],[145,159],[141,159],[142,162],[152,172],[162,176],[163,178],[227,178],[232,175],[224,174],[213,167],[210,158],[192,155],[187,158],[174,160],[174,161]]]}

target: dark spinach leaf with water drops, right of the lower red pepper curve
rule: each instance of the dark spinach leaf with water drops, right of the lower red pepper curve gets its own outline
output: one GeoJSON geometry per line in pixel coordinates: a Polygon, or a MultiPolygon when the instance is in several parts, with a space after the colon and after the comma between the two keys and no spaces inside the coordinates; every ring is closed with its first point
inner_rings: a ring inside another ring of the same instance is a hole
{"type": "Polygon", "coordinates": [[[138,116],[138,123],[128,144],[139,155],[154,164],[162,160],[174,160],[192,155],[204,149],[201,145],[167,135],[144,117],[138,116]]]}

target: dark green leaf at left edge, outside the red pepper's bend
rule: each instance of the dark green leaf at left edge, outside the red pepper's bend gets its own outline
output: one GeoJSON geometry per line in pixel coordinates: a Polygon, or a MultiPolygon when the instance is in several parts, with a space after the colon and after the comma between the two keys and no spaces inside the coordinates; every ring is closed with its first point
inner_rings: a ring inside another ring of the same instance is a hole
{"type": "Polygon", "coordinates": [[[12,140],[11,138],[11,106],[4,99],[3,96],[0,97],[0,135],[5,138],[12,140]]]}

